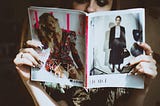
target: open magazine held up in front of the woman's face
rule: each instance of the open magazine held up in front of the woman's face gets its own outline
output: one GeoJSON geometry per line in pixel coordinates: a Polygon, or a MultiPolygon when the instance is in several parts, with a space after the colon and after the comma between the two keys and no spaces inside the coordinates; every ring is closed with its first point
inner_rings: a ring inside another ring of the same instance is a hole
{"type": "Polygon", "coordinates": [[[132,75],[129,62],[143,54],[144,9],[85,13],[29,7],[32,39],[43,65],[31,69],[31,80],[85,88],[143,88],[143,76],[132,75]]]}

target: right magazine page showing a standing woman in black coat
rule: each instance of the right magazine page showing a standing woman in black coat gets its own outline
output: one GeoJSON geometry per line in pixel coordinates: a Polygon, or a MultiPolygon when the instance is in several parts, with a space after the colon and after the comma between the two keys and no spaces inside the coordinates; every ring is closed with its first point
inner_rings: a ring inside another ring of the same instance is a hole
{"type": "Polygon", "coordinates": [[[132,75],[129,62],[143,54],[144,9],[96,12],[88,15],[87,88],[144,87],[143,76],[132,75]]]}

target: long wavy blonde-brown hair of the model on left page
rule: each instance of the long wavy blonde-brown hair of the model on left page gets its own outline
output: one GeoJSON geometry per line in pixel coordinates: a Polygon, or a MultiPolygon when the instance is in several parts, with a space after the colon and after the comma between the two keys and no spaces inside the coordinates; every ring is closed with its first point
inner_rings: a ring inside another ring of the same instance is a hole
{"type": "Polygon", "coordinates": [[[39,40],[42,42],[43,45],[45,45],[45,48],[53,47],[54,42],[51,42],[52,39],[54,39],[55,36],[61,36],[62,34],[62,30],[59,26],[58,19],[50,13],[43,13],[39,17],[39,28],[36,29],[36,32],[39,40]],[[51,31],[48,26],[48,22],[50,21],[49,17],[54,20],[54,23],[52,24],[54,24],[55,26],[55,31],[51,31]]]}

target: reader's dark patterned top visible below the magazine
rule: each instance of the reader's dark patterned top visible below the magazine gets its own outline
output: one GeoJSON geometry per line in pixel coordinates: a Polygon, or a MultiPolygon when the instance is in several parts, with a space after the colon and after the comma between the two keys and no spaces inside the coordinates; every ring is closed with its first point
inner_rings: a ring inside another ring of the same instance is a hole
{"type": "Polygon", "coordinates": [[[54,100],[65,100],[69,106],[115,106],[116,101],[129,94],[129,90],[124,88],[84,89],[53,83],[42,85],[54,100]]]}

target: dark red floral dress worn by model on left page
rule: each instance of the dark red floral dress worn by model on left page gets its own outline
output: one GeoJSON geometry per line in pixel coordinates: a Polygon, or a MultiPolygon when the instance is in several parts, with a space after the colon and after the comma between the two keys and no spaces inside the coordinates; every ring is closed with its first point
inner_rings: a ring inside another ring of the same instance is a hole
{"type": "Polygon", "coordinates": [[[70,56],[71,53],[78,69],[83,69],[83,64],[81,63],[78,51],[75,48],[76,33],[74,31],[67,32],[66,30],[63,30],[61,42],[58,42],[55,36],[53,37],[54,50],[51,52],[51,55],[46,62],[46,68],[48,69],[51,64],[53,65],[53,68],[61,64],[65,70],[75,66],[70,56]]]}

